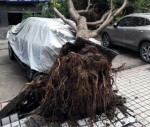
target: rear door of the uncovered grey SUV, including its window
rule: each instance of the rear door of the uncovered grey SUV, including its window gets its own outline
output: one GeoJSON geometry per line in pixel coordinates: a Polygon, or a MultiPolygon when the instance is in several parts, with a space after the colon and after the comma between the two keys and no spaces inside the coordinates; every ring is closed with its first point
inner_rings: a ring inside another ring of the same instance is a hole
{"type": "Polygon", "coordinates": [[[144,34],[145,18],[133,17],[130,27],[126,28],[125,45],[137,47],[144,34]]]}

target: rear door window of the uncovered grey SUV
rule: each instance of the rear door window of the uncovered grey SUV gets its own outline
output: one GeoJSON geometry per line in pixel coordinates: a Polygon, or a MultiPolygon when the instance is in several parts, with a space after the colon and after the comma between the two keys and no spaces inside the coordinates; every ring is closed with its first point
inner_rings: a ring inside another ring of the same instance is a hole
{"type": "Polygon", "coordinates": [[[134,17],[131,26],[144,26],[145,25],[145,18],[141,17],[134,17]]]}

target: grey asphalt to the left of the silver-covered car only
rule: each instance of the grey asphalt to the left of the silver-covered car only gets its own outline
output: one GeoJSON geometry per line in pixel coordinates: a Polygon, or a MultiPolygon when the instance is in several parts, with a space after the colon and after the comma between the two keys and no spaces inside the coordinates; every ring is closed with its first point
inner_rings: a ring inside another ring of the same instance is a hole
{"type": "Polygon", "coordinates": [[[0,101],[12,99],[27,82],[24,69],[8,57],[8,44],[0,40],[0,101]]]}

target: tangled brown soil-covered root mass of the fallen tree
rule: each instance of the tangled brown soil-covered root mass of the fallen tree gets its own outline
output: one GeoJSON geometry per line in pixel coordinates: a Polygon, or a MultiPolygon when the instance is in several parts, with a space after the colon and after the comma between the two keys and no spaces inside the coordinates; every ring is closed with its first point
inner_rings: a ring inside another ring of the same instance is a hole
{"type": "Polygon", "coordinates": [[[93,118],[114,111],[112,85],[111,61],[106,53],[92,44],[79,48],[66,43],[49,73],[40,73],[15,98],[13,112],[38,114],[53,122],[93,118]]]}

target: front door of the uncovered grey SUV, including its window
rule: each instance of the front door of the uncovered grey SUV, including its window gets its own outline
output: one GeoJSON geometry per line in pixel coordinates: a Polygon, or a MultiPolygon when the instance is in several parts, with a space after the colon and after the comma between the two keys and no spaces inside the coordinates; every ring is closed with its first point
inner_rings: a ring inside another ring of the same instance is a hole
{"type": "Polygon", "coordinates": [[[125,43],[126,28],[131,23],[131,17],[125,17],[117,23],[117,27],[112,30],[112,41],[117,44],[125,43]]]}

